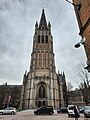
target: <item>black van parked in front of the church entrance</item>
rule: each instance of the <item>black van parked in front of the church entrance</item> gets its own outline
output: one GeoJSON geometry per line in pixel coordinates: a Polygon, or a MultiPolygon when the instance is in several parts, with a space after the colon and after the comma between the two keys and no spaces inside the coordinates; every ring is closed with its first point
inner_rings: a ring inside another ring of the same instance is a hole
{"type": "Polygon", "coordinates": [[[52,106],[41,106],[40,108],[37,108],[34,110],[34,114],[40,115],[40,114],[49,114],[52,115],[54,113],[52,106]]]}

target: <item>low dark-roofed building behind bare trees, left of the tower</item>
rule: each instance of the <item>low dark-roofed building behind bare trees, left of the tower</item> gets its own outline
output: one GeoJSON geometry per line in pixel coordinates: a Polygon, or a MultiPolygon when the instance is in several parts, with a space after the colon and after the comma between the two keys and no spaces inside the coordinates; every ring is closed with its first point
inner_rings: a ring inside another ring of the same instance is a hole
{"type": "Polygon", "coordinates": [[[18,85],[0,85],[0,108],[14,106],[19,108],[21,87],[18,85]]]}

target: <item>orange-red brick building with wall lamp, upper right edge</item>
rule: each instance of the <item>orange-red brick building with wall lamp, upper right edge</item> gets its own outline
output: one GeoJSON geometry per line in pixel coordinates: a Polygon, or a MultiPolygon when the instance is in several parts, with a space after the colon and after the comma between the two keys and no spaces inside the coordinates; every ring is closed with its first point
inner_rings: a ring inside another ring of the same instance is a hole
{"type": "Polygon", "coordinates": [[[87,55],[87,67],[90,72],[90,0],[73,0],[81,37],[85,37],[84,48],[87,55]]]}

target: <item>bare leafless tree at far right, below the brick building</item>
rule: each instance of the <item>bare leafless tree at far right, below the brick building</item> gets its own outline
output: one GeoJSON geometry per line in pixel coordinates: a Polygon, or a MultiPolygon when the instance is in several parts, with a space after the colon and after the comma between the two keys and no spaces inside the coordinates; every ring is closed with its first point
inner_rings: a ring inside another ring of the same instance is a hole
{"type": "Polygon", "coordinates": [[[78,66],[78,83],[82,91],[83,100],[86,105],[90,102],[90,74],[85,68],[84,63],[78,66]]]}

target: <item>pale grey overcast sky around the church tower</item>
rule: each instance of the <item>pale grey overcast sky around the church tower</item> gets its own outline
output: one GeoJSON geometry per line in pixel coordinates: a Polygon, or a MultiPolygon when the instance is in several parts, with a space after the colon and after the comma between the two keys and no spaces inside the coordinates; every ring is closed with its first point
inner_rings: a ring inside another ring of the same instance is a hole
{"type": "Polygon", "coordinates": [[[65,0],[0,0],[0,84],[22,84],[29,70],[35,22],[44,7],[51,22],[56,70],[77,87],[77,67],[86,61],[73,6],[65,0]]]}

